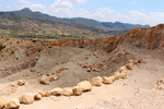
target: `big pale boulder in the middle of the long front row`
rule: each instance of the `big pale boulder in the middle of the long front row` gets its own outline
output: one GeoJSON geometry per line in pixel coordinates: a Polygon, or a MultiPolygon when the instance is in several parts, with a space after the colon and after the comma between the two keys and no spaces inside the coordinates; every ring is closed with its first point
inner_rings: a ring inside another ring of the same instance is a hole
{"type": "Polygon", "coordinates": [[[81,87],[83,92],[92,90],[92,84],[89,81],[80,82],[77,86],[81,87]]]}

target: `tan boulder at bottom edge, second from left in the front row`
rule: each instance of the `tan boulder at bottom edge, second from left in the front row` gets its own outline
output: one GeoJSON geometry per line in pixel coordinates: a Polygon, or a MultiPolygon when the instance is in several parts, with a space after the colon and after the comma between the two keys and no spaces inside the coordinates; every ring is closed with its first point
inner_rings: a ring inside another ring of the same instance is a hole
{"type": "Polygon", "coordinates": [[[15,109],[15,108],[19,108],[19,107],[20,107],[20,100],[16,99],[16,98],[13,98],[12,100],[10,100],[7,104],[7,109],[15,109]]]}

